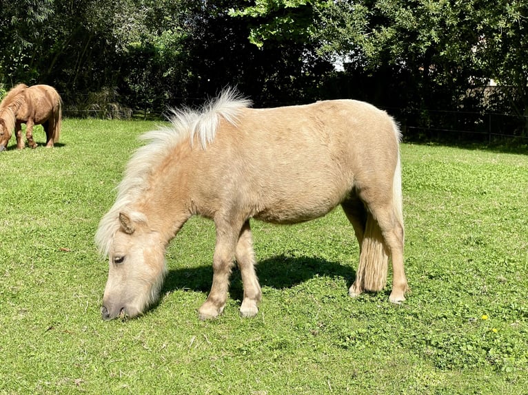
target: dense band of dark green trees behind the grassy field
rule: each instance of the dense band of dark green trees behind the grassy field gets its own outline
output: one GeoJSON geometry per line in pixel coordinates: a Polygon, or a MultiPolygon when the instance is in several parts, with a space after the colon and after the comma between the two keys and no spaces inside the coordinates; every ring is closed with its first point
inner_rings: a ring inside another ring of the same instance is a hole
{"type": "Polygon", "coordinates": [[[528,115],[527,25],[522,0],[12,0],[0,84],[158,111],[236,85],[256,105],[358,98],[421,125],[528,115]]]}

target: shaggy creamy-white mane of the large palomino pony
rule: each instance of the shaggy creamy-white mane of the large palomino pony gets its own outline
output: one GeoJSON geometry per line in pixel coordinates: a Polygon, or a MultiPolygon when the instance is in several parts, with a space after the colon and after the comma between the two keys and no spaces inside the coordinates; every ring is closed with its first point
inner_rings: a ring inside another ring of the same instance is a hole
{"type": "MultiPolygon", "coordinates": [[[[119,212],[126,211],[130,204],[143,195],[148,188],[148,178],[152,176],[152,169],[163,162],[165,157],[185,139],[190,140],[192,147],[194,140],[198,140],[201,149],[207,149],[207,145],[214,141],[220,119],[223,118],[236,125],[241,110],[250,107],[251,104],[250,100],[240,96],[236,90],[225,89],[220,96],[210,100],[197,111],[172,109],[169,127],[160,127],[140,136],[140,140],[148,143],[130,158],[123,180],[116,187],[116,201],[99,222],[95,235],[99,253],[106,256],[110,252],[114,234],[119,230],[119,212]]],[[[134,221],[147,221],[143,213],[128,212],[128,215],[134,221]]]]}

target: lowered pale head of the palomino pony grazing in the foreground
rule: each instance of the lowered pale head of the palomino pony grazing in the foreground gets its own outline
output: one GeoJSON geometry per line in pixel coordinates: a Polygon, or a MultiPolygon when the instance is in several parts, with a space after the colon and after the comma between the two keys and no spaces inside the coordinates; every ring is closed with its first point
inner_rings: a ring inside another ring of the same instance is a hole
{"type": "Polygon", "coordinates": [[[101,315],[135,317],[159,297],[167,273],[165,245],[142,213],[120,212],[114,224],[108,220],[103,218],[97,233],[101,253],[110,258],[101,315]]]}

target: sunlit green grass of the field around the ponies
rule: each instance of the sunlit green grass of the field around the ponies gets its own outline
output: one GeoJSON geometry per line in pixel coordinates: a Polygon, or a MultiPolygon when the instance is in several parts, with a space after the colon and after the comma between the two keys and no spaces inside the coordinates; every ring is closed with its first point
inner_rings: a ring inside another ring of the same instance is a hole
{"type": "Polygon", "coordinates": [[[347,296],[358,246],[337,209],[253,222],[253,319],[238,317],[238,273],[223,316],[197,319],[214,228],[194,218],[167,251],[160,303],[105,322],[93,235],[154,125],[67,119],[54,149],[0,154],[1,394],[527,393],[528,156],[403,145],[401,306],[389,287],[347,296]]]}

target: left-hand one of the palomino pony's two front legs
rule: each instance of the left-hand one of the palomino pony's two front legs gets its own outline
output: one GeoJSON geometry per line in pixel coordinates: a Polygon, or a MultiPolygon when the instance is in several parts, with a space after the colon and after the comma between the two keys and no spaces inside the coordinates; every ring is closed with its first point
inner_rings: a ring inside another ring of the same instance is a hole
{"type": "Polygon", "coordinates": [[[215,221],[216,246],[213,255],[213,283],[207,300],[198,309],[200,319],[214,319],[222,314],[227,300],[229,277],[241,227],[224,221],[215,221]]]}

